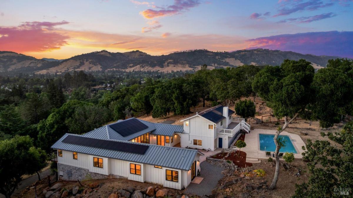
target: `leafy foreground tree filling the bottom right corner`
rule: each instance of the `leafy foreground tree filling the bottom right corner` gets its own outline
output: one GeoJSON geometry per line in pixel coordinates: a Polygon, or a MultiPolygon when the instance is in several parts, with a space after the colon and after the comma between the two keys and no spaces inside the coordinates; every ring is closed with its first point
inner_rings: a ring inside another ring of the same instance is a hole
{"type": "Polygon", "coordinates": [[[293,198],[352,196],[353,122],[346,124],[341,132],[321,135],[333,143],[307,140],[303,160],[308,161],[309,181],[295,184],[293,198]]]}

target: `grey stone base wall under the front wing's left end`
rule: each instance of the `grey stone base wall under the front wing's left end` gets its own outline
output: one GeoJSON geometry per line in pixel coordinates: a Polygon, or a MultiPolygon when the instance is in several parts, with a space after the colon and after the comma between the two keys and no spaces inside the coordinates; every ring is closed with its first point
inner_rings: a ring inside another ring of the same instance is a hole
{"type": "MultiPolygon", "coordinates": [[[[63,175],[59,175],[59,179],[61,180],[84,180],[84,179],[105,179],[108,178],[108,175],[103,175],[99,173],[89,172],[88,169],[79,168],[76,166],[65,165],[62,163],[58,163],[58,171],[62,171],[63,175]],[[71,177],[70,176],[71,171],[71,177]]],[[[110,178],[110,177],[109,177],[110,178]]]]}

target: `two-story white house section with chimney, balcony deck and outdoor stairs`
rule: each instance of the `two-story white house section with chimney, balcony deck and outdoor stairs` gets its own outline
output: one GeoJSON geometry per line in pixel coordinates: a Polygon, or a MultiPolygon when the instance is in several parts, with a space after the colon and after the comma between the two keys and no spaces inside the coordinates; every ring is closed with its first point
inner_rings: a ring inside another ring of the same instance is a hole
{"type": "Polygon", "coordinates": [[[250,125],[244,118],[232,117],[234,113],[226,106],[217,105],[180,120],[184,123],[184,132],[180,134],[181,147],[204,150],[229,148],[242,129],[250,131],[250,125]]]}

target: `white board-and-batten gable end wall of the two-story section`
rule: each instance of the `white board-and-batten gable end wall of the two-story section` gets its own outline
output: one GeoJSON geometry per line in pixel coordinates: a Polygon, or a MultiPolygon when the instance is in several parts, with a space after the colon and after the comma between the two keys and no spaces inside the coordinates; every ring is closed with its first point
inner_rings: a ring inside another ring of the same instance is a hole
{"type": "Polygon", "coordinates": [[[208,125],[214,125],[213,122],[196,116],[188,120],[184,120],[184,131],[181,135],[181,147],[186,148],[198,148],[198,149],[210,149],[214,150],[214,139],[216,137],[216,127],[214,129],[208,129],[208,125]],[[189,126],[185,125],[185,122],[189,122],[189,126]],[[189,133],[190,131],[190,133],[189,133]],[[202,140],[202,146],[193,145],[193,140],[202,140]]]}

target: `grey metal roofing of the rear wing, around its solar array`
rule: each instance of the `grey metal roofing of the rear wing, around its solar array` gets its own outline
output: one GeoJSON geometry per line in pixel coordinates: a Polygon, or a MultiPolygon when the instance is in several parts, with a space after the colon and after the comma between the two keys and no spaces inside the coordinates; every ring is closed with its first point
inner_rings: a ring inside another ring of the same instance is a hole
{"type": "MultiPolygon", "coordinates": [[[[130,120],[130,119],[137,119],[137,118],[129,118],[126,120],[130,120]]],[[[138,119],[138,120],[140,122],[142,122],[143,124],[147,125],[148,128],[124,137],[124,136],[120,135],[118,132],[116,132],[114,129],[110,128],[110,126],[109,126],[112,124],[116,124],[116,123],[125,121],[125,120],[118,120],[115,123],[102,126],[101,128],[90,131],[86,134],[83,134],[82,136],[101,139],[101,140],[129,141],[129,140],[132,140],[133,138],[139,137],[139,136],[146,134],[148,132],[150,132],[153,135],[165,135],[165,136],[172,136],[174,134],[174,132],[178,132],[178,133],[184,132],[184,126],[182,126],[182,125],[152,123],[152,122],[148,122],[148,121],[141,120],[141,119],[138,119]]]]}

